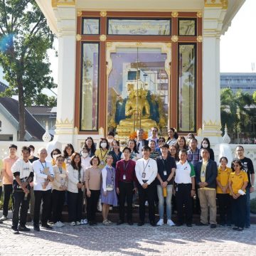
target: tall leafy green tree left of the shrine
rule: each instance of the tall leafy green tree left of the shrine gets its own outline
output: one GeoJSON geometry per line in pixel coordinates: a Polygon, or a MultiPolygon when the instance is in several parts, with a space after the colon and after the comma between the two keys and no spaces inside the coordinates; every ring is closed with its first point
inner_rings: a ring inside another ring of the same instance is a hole
{"type": "Polygon", "coordinates": [[[56,87],[46,50],[53,33],[34,0],[0,0],[0,65],[9,87],[1,96],[18,95],[18,140],[25,136],[25,106],[53,102],[43,88],[56,87]]]}

